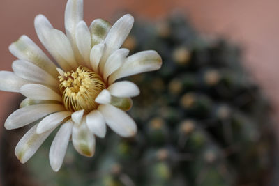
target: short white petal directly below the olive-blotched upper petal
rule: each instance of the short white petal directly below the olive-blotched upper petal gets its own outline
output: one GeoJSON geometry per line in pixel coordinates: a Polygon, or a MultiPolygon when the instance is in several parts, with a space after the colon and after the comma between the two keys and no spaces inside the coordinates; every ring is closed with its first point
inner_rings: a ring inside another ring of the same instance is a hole
{"type": "Polygon", "coordinates": [[[100,43],[98,45],[94,45],[90,52],[90,63],[94,72],[98,72],[98,65],[100,63],[100,58],[103,55],[103,51],[105,49],[105,45],[100,43]]]}

